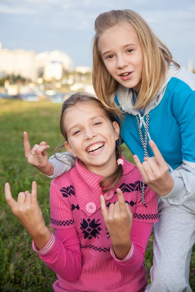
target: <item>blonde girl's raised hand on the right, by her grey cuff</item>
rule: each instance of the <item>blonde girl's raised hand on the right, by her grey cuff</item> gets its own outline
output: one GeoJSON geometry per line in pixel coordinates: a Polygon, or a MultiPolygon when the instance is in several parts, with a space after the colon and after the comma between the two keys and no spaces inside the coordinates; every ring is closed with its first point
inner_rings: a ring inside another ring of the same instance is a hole
{"type": "Polygon", "coordinates": [[[166,196],[172,191],[174,180],[154,141],[150,140],[149,145],[155,156],[144,157],[144,162],[141,163],[138,156],[134,155],[134,161],[144,182],[159,196],[166,196]]]}

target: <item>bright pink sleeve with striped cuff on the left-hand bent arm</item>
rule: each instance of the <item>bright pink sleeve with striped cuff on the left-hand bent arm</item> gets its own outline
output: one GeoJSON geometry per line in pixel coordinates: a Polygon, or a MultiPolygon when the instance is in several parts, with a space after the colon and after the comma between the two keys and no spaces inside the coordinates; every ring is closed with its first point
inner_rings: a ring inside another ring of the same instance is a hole
{"type": "Polygon", "coordinates": [[[44,263],[59,277],[74,282],[81,273],[80,242],[76,228],[55,230],[47,244],[38,250],[35,242],[32,247],[44,263]]]}

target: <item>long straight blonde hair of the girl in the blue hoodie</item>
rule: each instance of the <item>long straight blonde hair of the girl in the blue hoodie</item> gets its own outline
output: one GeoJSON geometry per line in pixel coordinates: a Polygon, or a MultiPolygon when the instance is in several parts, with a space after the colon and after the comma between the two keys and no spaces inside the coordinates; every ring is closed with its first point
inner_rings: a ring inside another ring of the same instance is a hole
{"type": "Polygon", "coordinates": [[[128,22],[136,31],[143,54],[141,88],[137,95],[135,109],[144,109],[159,91],[170,63],[180,66],[173,60],[169,49],[155,36],[146,21],[135,11],[111,10],[101,13],[95,21],[96,35],[93,43],[92,80],[95,92],[101,103],[111,109],[119,83],[110,75],[98,50],[98,39],[109,28],[128,22]]]}

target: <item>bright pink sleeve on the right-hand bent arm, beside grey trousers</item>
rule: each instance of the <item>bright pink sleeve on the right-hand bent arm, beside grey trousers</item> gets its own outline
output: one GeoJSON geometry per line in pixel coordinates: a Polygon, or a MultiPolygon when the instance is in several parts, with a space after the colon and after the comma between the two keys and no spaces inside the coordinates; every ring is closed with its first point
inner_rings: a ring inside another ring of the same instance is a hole
{"type": "Polygon", "coordinates": [[[141,268],[152,228],[153,223],[133,221],[131,229],[132,246],[128,255],[123,260],[117,259],[111,247],[111,255],[114,257],[116,265],[122,273],[134,274],[141,268]]]}

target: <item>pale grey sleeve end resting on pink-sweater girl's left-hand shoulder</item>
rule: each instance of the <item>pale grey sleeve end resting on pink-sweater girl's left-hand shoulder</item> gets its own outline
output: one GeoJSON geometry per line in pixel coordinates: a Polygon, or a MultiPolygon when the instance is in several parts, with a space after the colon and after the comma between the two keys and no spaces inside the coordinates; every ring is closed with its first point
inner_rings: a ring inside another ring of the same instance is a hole
{"type": "Polygon", "coordinates": [[[49,162],[54,167],[54,173],[48,176],[48,178],[57,178],[75,166],[76,158],[70,152],[56,153],[56,156],[58,159],[54,155],[49,158],[49,162]]]}

